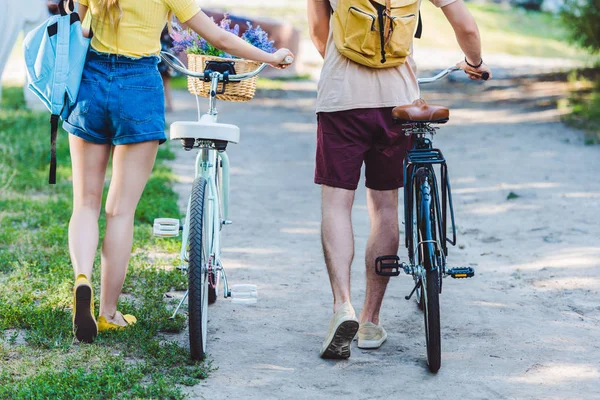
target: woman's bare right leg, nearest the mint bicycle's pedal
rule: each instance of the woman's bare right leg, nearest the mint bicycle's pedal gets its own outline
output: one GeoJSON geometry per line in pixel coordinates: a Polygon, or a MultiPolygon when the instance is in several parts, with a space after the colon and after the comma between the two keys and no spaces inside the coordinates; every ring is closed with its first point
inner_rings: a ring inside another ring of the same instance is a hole
{"type": "Polygon", "coordinates": [[[135,209],[142,196],[158,151],[158,141],[116,146],[113,173],[106,199],[106,235],[102,243],[100,315],[126,325],[117,313],[133,243],[135,209]]]}

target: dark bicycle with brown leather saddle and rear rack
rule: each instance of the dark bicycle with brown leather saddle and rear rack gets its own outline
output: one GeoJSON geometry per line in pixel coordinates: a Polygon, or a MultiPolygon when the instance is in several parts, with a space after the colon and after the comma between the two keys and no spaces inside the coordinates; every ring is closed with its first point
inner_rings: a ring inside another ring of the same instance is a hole
{"type": "MultiPolygon", "coordinates": [[[[457,67],[448,68],[432,78],[419,79],[419,84],[438,81],[457,67]]],[[[487,80],[484,73],[482,78],[487,80]]],[[[398,276],[401,271],[412,275],[415,286],[406,300],[416,293],[417,304],[423,310],[427,362],[431,372],[441,365],[440,302],[442,278],[471,278],[475,271],[471,267],[447,268],[448,243],[456,245],[456,226],[452,207],[452,192],[448,178],[446,159],[439,149],[433,148],[428,136],[436,128],[432,125],[448,122],[450,112],[443,106],[427,104],[419,99],[412,104],[394,108],[394,121],[401,124],[404,133],[414,135],[414,147],[404,160],[404,221],[405,245],[408,263],[400,263],[397,255],[378,257],[376,272],[382,276],[398,276]],[[439,169],[438,181],[436,169],[439,169]],[[449,214],[449,215],[448,215],[449,214]],[[452,227],[452,238],[447,235],[448,216],[452,227]]]]}

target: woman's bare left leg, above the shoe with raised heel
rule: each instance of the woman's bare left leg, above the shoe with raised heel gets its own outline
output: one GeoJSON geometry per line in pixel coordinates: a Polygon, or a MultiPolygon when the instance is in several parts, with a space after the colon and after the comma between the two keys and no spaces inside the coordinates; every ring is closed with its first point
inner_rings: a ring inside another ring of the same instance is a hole
{"type": "Polygon", "coordinates": [[[98,249],[98,217],[111,146],[69,135],[73,166],[73,214],[69,222],[69,252],[75,277],[92,276],[98,249]]]}

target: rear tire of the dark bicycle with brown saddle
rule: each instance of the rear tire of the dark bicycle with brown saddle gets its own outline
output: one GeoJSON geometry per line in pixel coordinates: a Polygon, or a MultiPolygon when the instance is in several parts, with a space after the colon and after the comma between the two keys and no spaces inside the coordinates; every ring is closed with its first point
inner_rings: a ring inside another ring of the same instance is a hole
{"type": "Polygon", "coordinates": [[[419,258],[424,268],[422,275],[422,293],[425,322],[425,341],[427,345],[427,364],[429,370],[436,373],[441,366],[441,334],[440,334],[440,286],[437,257],[435,254],[435,214],[431,194],[431,182],[429,172],[417,174],[419,184],[419,199],[417,219],[419,226],[419,237],[422,245],[418,246],[419,258]]]}

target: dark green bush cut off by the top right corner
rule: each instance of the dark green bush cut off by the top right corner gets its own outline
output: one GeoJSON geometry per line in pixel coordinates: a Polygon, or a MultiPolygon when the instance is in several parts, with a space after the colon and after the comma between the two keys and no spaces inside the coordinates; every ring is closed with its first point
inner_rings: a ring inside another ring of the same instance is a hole
{"type": "Polygon", "coordinates": [[[600,0],[566,0],[561,16],[574,43],[600,52],[600,0]]]}

